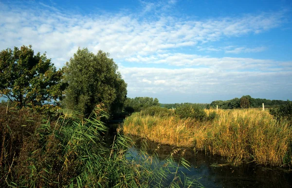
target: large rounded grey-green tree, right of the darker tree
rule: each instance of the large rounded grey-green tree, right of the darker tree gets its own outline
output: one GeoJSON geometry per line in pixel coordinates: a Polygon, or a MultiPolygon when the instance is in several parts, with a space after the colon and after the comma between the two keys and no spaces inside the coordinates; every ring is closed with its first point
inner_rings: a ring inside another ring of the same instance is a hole
{"type": "Polygon", "coordinates": [[[83,115],[91,113],[96,104],[103,103],[108,110],[122,110],[127,95],[127,84],[117,71],[118,66],[101,50],[94,53],[78,48],[66,63],[65,106],[79,109],[83,115]]]}

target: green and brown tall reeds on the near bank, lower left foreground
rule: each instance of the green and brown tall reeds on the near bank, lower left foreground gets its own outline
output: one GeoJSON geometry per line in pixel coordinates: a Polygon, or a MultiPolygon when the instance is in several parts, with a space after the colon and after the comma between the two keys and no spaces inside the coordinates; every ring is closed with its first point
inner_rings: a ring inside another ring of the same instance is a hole
{"type": "MultiPolygon", "coordinates": [[[[1,187],[200,186],[178,175],[171,155],[165,165],[155,155],[129,154],[133,141],[123,135],[110,146],[104,143],[108,128],[101,119],[107,114],[100,109],[87,119],[74,112],[56,121],[41,120],[26,109],[0,107],[0,113],[1,187]]],[[[180,165],[188,165],[182,161],[180,165]]]]}

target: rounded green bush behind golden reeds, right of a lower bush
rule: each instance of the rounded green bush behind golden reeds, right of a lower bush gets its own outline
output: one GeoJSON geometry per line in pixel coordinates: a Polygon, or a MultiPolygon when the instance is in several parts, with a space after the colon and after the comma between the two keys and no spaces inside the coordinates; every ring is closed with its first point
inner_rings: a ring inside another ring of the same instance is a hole
{"type": "Polygon", "coordinates": [[[196,120],[204,120],[207,117],[206,112],[196,104],[183,104],[175,112],[180,118],[190,117],[196,120]]]}

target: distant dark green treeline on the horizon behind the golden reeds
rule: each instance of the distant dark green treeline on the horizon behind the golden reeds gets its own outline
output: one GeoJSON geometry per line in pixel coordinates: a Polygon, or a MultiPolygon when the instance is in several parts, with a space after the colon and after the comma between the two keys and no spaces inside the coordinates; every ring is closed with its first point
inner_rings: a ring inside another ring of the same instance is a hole
{"type": "MultiPolygon", "coordinates": [[[[239,109],[239,108],[261,108],[262,104],[265,104],[265,108],[272,108],[279,105],[287,104],[284,100],[270,100],[262,98],[252,98],[250,95],[243,95],[241,98],[233,98],[231,100],[216,100],[211,104],[207,103],[195,103],[203,109],[218,108],[219,109],[239,109]]],[[[174,104],[160,104],[161,107],[172,109],[182,106],[183,104],[193,104],[193,103],[174,103],[174,104]]]]}

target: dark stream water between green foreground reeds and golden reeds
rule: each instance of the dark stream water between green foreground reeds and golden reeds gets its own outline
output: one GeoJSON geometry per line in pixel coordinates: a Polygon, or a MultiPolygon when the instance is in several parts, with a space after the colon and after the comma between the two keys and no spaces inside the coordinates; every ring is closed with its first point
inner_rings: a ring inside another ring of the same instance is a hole
{"type": "MultiPolygon", "coordinates": [[[[133,155],[138,155],[143,139],[132,137],[136,146],[128,149],[133,155]]],[[[152,154],[157,149],[158,143],[146,141],[147,153],[152,154]]],[[[165,157],[174,151],[172,146],[160,145],[157,150],[159,160],[164,162],[165,157]]],[[[194,152],[192,149],[180,148],[179,154],[184,151],[184,158],[190,162],[188,171],[181,166],[180,170],[188,177],[199,179],[205,188],[291,188],[292,172],[285,168],[267,167],[256,164],[245,164],[235,167],[228,164],[220,156],[194,152]],[[221,165],[221,166],[220,166],[221,165]]],[[[179,161],[180,155],[174,155],[175,161],[179,161]]]]}

